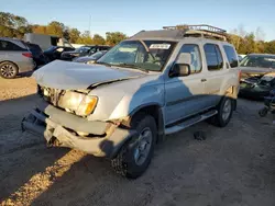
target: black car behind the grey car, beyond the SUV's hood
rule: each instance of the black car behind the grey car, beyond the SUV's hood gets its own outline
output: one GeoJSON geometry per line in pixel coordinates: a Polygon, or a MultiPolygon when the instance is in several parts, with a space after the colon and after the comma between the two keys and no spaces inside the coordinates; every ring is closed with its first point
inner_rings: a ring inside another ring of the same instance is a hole
{"type": "Polygon", "coordinates": [[[81,46],[72,52],[64,52],[62,54],[62,60],[73,60],[75,57],[82,57],[86,55],[92,55],[100,50],[107,50],[110,46],[81,46]]]}

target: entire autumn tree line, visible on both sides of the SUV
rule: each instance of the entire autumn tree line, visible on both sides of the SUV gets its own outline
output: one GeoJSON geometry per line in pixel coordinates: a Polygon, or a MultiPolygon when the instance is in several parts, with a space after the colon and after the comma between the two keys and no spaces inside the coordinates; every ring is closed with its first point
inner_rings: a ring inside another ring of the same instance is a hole
{"type": "MultiPolygon", "coordinates": [[[[25,33],[48,34],[68,39],[75,44],[116,45],[128,36],[122,32],[107,32],[106,38],[99,34],[91,35],[89,31],[79,32],[61,22],[53,21],[47,25],[30,24],[23,16],[0,12],[0,36],[23,38],[25,33]]],[[[246,33],[242,26],[228,34],[228,41],[233,44],[239,54],[267,53],[275,54],[275,41],[263,41],[261,28],[246,33]]]]}

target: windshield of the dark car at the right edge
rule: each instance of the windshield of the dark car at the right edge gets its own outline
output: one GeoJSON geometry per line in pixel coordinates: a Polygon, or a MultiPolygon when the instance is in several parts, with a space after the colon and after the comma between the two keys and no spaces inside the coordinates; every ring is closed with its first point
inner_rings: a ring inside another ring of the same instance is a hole
{"type": "Polygon", "coordinates": [[[275,69],[275,56],[246,56],[241,61],[241,67],[263,67],[275,69]]]}

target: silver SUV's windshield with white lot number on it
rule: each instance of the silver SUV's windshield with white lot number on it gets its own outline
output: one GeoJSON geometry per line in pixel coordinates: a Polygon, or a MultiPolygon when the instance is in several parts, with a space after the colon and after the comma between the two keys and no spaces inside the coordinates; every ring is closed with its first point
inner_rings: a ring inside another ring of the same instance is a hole
{"type": "Polygon", "coordinates": [[[97,62],[161,71],[175,45],[176,42],[166,41],[124,41],[110,49],[97,62]]]}

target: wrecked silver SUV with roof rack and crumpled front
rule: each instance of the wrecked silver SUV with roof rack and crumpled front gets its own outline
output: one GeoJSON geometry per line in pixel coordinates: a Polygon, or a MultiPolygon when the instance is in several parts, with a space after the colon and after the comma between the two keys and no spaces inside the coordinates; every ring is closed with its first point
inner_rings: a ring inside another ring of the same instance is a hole
{"type": "Polygon", "coordinates": [[[94,65],[53,61],[33,75],[41,98],[22,129],[138,178],[165,135],[207,118],[229,123],[240,73],[226,36],[209,25],[168,26],[139,32],[94,65]]]}

